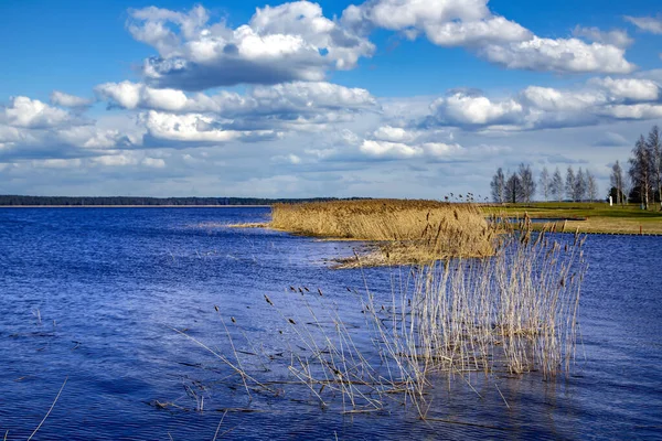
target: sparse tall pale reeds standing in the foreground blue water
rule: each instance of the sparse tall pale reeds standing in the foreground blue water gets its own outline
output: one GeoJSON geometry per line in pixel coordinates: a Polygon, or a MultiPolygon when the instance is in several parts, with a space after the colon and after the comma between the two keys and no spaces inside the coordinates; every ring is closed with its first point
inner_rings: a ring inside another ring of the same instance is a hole
{"type": "Polygon", "coordinates": [[[276,335],[286,330],[281,356],[256,348],[233,318],[227,326],[221,318],[232,354],[213,353],[249,396],[285,397],[292,395],[286,388],[299,395],[303,388],[309,401],[341,412],[394,405],[423,419],[442,378],[472,388],[476,375],[568,374],[587,268],[585,237],[532,232],[527,218],[517,226],[493,218],[488,229],[505,232],[493,240],[491,257],[401,267],[386,295],[373,293],[369,280],[361,291],[348,289],[361,309],[359,323],[341,316],[321,290],[289,287],[288,298],[264,297],[282,323],[276,335]],[[297,302],[298,308],[284,308],[297,302]],[[274,379],[275,372],[289,376],[274,379]]]}

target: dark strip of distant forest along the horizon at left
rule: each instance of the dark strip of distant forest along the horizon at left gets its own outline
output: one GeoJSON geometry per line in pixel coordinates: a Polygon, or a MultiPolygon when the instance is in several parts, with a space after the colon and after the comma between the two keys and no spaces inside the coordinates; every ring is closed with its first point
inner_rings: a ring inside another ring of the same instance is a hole
{"type": "MultiPolygon", "coordinates": [[[[349,200],[359,200],[362,197],[351,197],[349,200]]],[[[0,206],[99,206],[99,205],[271,205],[276,203],[295,202],[324,202],[340,201],[337,197],[312,197],[312,198],[261,198],[261,197],[135,197],[135,196],[19,196],[0,195],[0,206]]]]}

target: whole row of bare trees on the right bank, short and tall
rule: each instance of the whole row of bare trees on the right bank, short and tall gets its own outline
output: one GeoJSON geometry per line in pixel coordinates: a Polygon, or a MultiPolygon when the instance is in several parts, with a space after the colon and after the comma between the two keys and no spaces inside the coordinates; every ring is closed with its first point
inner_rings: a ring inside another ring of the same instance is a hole
{"type": "MultiPolygon", "coordinates": [[[[644,138],[639,137],[631,157],[628,160],[629,169],[623,171],[619,161],[611,166],[610,190],[607,197],[611,196],[616,204],[641,203],[648,209],[649,204],[660,202],[662,195],[662,139],[660,129],[654,126],[644,138]]],[[[543,168],[537,182],[533,178],[531,166],[520,164],[517,171],[503,173],[503,169],[496,170],[490,184],[492,201],[504,202],[531,202],[536,191],[544,201],[597,201],[598,185],[595,176],[588,170],[575,172],[568,166],[563,178],[560,170],[556,168],[549,174],[547,168],[543,168]]],[[[662,202],[660,202],[662,209],[662,202]]]]}

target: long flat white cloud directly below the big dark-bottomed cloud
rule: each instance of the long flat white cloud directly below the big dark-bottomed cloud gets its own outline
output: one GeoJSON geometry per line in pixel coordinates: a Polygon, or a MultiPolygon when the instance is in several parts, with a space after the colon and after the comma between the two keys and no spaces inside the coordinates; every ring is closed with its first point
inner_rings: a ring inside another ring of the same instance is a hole
{"type": "MultiPolygon", "coordinates": [[[[102,84],[95,92],[109,107],[156,110],[156,114],[146,114],[141,121],[147,123],[151,136],[160,139],[179,139],[181,136],[174,131],[166,136],[163,130],[156,129],[154,125],[160,127],[160,123],[156,123],[154,118],[166,118],[170,114],[173,115],[168,119],[178,120],[180,131],[190,126],[185,121],[195,120],[199,121],[196,126],[202,121],[206,127],[222,130],[222,138],[241,131],[241,139],[248,141],[264,139],[267,133],[279,136],[277,132],[280,131],[319,131],[350,122],[357,114],[378,110],[376,99],[367,90],[324,82],[255,86],[244,94],[222,90],[211,96],[130,82],[102,84]],[[179,119],[184,121],[183,126],[179,119]]],[[[206,132],[197,141],[211,142],[211,136],[206,132]]]]}

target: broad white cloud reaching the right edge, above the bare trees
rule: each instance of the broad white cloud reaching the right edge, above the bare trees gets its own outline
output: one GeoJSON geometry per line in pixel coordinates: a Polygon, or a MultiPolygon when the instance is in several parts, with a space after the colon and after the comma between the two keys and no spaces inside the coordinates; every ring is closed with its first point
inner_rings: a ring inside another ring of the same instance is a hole
{"type": "Polygon", "coordinates": [[[528,86],[500,99],[481,93],[453,92],[435,99],[430,112],[417,125],[501,131],[592,126],[658,118],[661,100],[660,84],[653,79],[607,76],[572,89],[528,86]]]}

